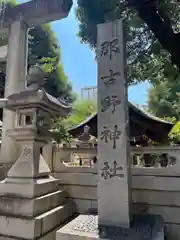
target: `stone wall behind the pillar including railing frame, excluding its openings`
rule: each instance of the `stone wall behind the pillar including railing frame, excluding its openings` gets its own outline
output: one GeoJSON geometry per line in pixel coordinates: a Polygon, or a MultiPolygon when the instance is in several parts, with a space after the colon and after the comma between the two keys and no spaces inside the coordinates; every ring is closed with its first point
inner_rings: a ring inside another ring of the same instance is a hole
{"type": "MultiPolygon", "coordinates": [[[[97,154],[96,149],[57,149],[51,151],[51,170],[60,179],[76,203],[76,212],[84,213],[89,209],[97,209],[97,166],[64,167],[63,160],[68,160],[72,152],[97,154]]],[[[132,148],[132,153],[168,153],[175,158],[174,165],[162,167],[132,166],[132,198],[134,213],[152,213],[163,217],[168,239],[180,239],[180,148],[148,147],[132,148]]],[[[48,153],[48,151],[47,151],[48,153]]],[[[48,154],[47,154],[48,156],[48,154]]],[[[45,156],[44,156],[45,157],[45,156]]],[[[46,157],[45,157],[46,158],[46,157]]],[[[47,157],[48,159],[48,157],[47,157]]],[[[111,203],[110,203],[111,204],[111,203]]]]}

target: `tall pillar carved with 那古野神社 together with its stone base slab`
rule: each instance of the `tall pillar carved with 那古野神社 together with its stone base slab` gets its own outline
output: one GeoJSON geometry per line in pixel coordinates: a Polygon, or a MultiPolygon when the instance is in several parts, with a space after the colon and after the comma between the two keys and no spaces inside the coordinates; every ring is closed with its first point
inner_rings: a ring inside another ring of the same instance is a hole
{"type": "MultiPolygon", "coordinates": [[[[164,240],[162,217],[150,214],[134,214],[131,217],[131,161],[124,50],[123,20],[98,25],[97,212],[96,209],[89,209],[79,215],[58,230],[57,240],[164,240]]],[[[138,209],[134,208],[134,211],[138,209]]]]}

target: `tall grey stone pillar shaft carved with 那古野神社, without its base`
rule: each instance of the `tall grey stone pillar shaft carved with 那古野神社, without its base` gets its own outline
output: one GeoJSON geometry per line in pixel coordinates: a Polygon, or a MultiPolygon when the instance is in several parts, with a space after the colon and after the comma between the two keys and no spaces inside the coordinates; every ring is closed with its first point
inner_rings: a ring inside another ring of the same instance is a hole
{"type": "Polygon", "coordinates": [[[129,227],[131,173],[122,20],[98,25],[99,223],[129,227]]]}

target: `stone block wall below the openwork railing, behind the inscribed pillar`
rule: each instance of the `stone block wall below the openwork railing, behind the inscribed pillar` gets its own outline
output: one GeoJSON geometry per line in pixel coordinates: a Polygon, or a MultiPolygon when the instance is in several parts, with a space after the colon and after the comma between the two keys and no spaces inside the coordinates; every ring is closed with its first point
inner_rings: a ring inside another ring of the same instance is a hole
{"type": "MultiPolygon", "coordinates": [[[[152,175],[146,169],[132,169],[134,213],[152,213],[163,217],[171,240],[180,239],[180,177],[152,175]]],[[[55,172],[69,197],[76,203],[77,213],[97,209],[97,173],[90,169],[66,169],[55,172]]]]}

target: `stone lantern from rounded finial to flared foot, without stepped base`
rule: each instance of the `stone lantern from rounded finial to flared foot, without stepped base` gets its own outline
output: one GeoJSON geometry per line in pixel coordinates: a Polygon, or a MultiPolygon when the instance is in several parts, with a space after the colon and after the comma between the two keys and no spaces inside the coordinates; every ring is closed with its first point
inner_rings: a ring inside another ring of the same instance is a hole
{"type": "Polygon", "coordinates": [[[27,89],[8,97],[6,108],[16,112],[15,128],[8,136],[21,146],[21,154],[8,172],[8,177],[44,177],[50,170],[41,155],[42,146],[51,140],[52,117],[67,116],[71,108],[52,97],[42,88],[44,72],[30,68],[27,89]]]}

